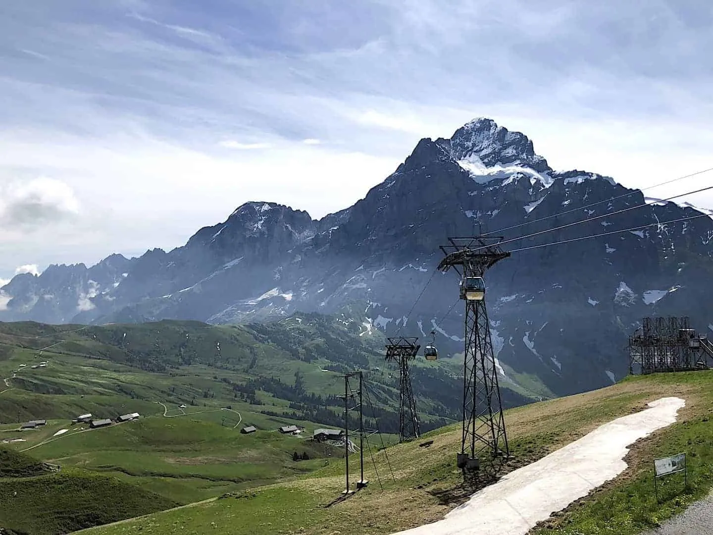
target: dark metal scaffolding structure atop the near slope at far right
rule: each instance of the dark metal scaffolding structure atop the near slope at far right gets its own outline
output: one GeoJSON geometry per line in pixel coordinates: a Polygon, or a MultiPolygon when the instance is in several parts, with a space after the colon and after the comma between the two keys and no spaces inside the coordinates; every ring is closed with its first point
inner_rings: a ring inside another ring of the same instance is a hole
{"type": "Polygon", "coordinates": [[[629,373],[707,370],[713,345],[688,317],[645,317],[629,337],[629,373]]]}

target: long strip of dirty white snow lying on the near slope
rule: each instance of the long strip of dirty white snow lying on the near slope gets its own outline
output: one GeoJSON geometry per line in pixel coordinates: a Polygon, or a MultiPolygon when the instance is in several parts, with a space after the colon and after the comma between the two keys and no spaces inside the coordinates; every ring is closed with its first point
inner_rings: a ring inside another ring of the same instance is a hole
{"type": "Polygon", "coordinates": [[[593,432],[507,474],[474,494],[443,520],[401,535],[525,535],[553,511],[621,474],[628,446],[676,421],[685,402],[664,397],[648,409],[612,420],[593,432]]]}

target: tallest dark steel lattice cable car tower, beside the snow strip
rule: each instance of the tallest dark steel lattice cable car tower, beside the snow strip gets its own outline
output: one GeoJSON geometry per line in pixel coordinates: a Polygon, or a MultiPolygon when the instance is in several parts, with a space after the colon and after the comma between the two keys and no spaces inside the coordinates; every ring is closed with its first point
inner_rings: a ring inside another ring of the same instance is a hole
{"type": "Polygon", "coordinates": [[[458,468],[466,479],[480,470],[479,456],[486,452],[493,472],[510,457],[483,282],[489,267],[510,256],[498,245],[502,240],[483,235],[448,238],[450,243],[441,245],[446,256],[438,264],[438,270],[453,268],[460,275],[460,295],[466,302],[463,437],[458,454],[458,468]]]}

